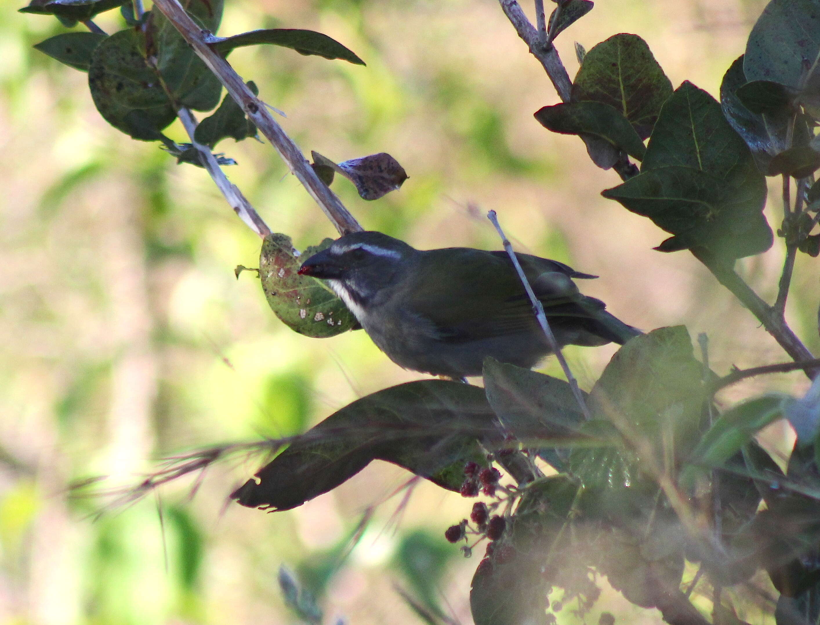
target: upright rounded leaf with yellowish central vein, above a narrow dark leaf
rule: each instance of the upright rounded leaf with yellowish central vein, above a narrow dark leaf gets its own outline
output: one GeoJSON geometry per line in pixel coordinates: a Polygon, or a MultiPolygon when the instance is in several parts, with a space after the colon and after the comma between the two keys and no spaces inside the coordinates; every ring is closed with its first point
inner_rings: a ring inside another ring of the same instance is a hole
{"type": "Polygon", "coordinates": [[[649,46],[635,34],[616,34],[586,52],[572,84],[572,100],[615,108],[641,139],[652,132],[672,83],[649,46]]]}

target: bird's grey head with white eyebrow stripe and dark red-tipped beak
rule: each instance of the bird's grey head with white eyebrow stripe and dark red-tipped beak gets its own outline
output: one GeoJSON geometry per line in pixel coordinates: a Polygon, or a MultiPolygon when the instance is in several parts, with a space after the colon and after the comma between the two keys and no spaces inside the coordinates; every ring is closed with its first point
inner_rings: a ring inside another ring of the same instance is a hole
{"type": "Polygon", "coordinates": [[[300,276],[328,281],[337,293],[344,288],[353,299],[367,301],[392,284],[416,253],[416,249],[392,236],[353,232],[307,258],[298,272],[300,276]]]}

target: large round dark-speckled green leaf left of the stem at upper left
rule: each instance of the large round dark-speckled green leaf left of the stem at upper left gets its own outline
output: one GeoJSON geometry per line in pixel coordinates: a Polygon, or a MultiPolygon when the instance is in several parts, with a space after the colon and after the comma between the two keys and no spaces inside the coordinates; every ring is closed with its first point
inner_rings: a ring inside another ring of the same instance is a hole
{"type": "Polygon", "coordinates": [[[144,35],[137,30],[112,34],[91,55],[89,88],[105,121],[134,139],[152,141],[176,111],[144,54],[144,35]]]}

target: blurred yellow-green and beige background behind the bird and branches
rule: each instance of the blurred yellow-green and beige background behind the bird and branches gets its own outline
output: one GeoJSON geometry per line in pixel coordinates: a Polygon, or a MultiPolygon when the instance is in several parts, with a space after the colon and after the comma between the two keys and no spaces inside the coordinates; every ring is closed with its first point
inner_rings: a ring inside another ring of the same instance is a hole
{"type": "MultiPolygon", "coordinates": [[[[463,559],[443,531],[472,500],[425,483],[402,507],[396,491],[410,476],[385,463],[287,513],[227,501],[262,458],[209,469],[193,497],[195,477],[100,518],[107,500],[69,496],[75,480],[127,486],[169,454],[303,431],[420,375],[362,332],[312,340],[285,328],[253,274],[235,279],[236,265],[257,266],[260,241],[207,174],[108,126],[87,75],[31,48],[66,29],[21,6],[0,0],[0,623],[292,623],[276,582],[282,563],[323,591],[328,623],[419,623],[394,584],[471,623],[469,580],[483,549],[463,559]]],[[[688,79],[717,94],[763,6],[601,0],[558,49],[574,75],[573,40],[591,48],[640,34],[675,86],[688,79]]],[[[122,27],[117,11],[97,21],[122,27]]],[[[497,2],[227,0],[221,34],[276,26],[320,30],[367,62],[271,47],[230,57],[287,113],[282,124],[305,152],[337,161],[388,152],[402,163],[410,179],[374,203],[335,182],[368,229],[421,248],[497,249],[484,217],[493,208],[518,249],[601,276],[585,292],[626,322],[708,332],[718,372],[786,360],[694,258],[654,252],[666,235],[600,197],[616,174],[595,168],[577,138],[535,122],[558,98],[497,2]]],[[[184,139],[178,123],[169,133],[184,139]]],[[[239,162],[227,173],[273,230],[299,248],[335,235],[270,146],[229,139],[219,149],[239,162]]],[[[773,188],[767,214],[777,228],[773,188]]],[[[779,245],[739,263],[770,299],[779,245]]],[[[820,271],[814,259],[798,261],[789,319],[818,353],[820,271]]],[[[567,350],[585,388],[613,351],[567,350]]],[[[544,371],[559,374],[552,362],[544,371]]],[[[799,373],[768,376],[722,399],[805,387],[799,373]]],[[[786,449],[786,427],[770,435],[786,449]]],[[[613,591],[599,607],[626,623],[659,621],[613,591]]],[[[559,618],[581,622],[569,609],[559,618]]]]}

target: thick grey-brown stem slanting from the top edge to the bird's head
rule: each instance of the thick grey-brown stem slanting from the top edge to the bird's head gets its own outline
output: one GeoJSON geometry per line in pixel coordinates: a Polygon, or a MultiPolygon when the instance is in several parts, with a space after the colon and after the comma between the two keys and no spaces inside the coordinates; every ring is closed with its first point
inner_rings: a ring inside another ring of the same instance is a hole
{"type": "Polygon", "coordinates": [[[316,200],[336,230],[339,230],[339,234],[346,235],[350,232],[363,230],[358,221],[348,212],[348,209],[344,208],[339,198],[324,182],[319,180],[303,153],[271,116],[265,104],[248,89],[248,85],[244,83],[244,80],[233,67],[225,61],[225,58],[211,48],[209,40],[212,39],[212,34],[200,29],[177,0],[154,0],[153,6],[158,11],[162,11],[162,14],[174,25],[175,29],[180,31],[185,41],[194,48],[194,52],[197,53],[198,57],[225,85],[230,97],[235,99],[239,107],[242,107],[242,110],[248,116],[248,119],[253,121],[253,124],[262,132],[262,135],[265,135],[271,145],[276,148],[290,171],[294,173],[299,182],[307,189],[307,192],[316,200]]]}

